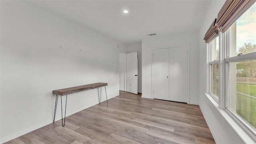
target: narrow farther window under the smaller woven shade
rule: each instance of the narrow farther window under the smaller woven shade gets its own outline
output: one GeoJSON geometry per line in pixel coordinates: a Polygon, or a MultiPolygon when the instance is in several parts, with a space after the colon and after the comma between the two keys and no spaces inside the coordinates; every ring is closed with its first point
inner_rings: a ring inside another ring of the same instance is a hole
{"type": "Polygon", "coordinates": [[[210,94],[219,99],[219,37],[210,42],[210,94]]]}

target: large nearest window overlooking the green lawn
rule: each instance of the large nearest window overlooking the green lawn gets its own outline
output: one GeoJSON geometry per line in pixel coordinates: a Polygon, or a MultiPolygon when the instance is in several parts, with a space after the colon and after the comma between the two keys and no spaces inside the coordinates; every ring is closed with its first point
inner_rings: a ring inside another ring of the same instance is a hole
{"type": "Polygon", "coordinates": [[[256,132],[256,3],[226,32],[228,110],[256,132]]]}

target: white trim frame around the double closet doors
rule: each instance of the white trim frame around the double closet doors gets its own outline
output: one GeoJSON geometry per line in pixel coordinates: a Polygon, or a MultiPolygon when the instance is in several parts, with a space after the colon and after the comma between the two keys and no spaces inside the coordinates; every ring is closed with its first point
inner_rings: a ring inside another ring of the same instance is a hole
{"type": "Polygon", "coordinates": [[[163,48],[179,48],[179,47],[187,47],[187,96],[188,96],[188,101],[187,103],[190,104],[190,47],[189,44],[184,44],[184,45],[176,45],[176,46],[164,46],[164,47],[154,47],[151,50],[151,87],[152,87],[152,91],[151,91],[151,97],[152,99],[154,99],[154,94],[153,94],[153,90],[154,90],[154,84],[153,84],[153,69],[154,69],[154,50],[156,49],[163,49],[163,48]]]}

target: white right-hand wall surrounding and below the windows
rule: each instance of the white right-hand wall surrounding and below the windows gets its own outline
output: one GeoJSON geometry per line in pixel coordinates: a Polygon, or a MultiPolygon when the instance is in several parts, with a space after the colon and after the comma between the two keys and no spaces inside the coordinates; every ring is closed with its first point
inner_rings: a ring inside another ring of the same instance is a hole
{"type": "Polygon", "coordinates": [[[206,43],[204,42],[203,38],[213,20],[217,17],[218,12],[222,8],[224,2],[224,0],[216,0],[211,2],[210,8],[208,8],[208,12],[199,31],[199,105],[216,143],[255,143],[223,109],[218,108],[218,103],[215,102],[212,97],[204,94],[207,88],[207,52],[206,43]]]}

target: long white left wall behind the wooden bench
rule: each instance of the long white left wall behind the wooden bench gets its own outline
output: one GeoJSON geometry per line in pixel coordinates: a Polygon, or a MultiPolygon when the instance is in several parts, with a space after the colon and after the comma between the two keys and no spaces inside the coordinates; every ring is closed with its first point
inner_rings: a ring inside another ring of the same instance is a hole
{"type": "MultiPolygon", "coordinates": [[[[1,1],[0,13],[1,142],[52,122],[52,90],[107,82],[108,98],[119,95],[126,44],[24,1],[1,1]]],[[[68,95],[66,115],[97,103],[97,89],[68,95]]]]}

